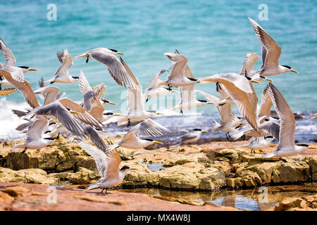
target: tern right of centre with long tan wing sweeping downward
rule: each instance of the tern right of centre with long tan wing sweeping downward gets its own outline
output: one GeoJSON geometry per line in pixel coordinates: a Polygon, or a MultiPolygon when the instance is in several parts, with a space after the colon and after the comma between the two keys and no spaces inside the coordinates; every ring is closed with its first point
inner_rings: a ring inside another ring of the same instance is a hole
{"type": "MultiPolygon", "coordinates": [[[[201,84],[208,82],[218,82],[223,84],[223,89],[232,98],[232,101],[237,105],[238,110],[242,116],[249,122],[255,131],[259,132],[259,127],[256,122],[256,116],[249,100],[249,95],[252,94],[252,89],[249,80],[245,76],[237,75],[235,73],[226,73],[212,75],[199,79],[201,84]]],[[[251,81],[259,83],[256,81],[251,81]]]]}

